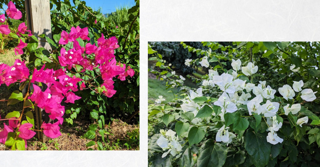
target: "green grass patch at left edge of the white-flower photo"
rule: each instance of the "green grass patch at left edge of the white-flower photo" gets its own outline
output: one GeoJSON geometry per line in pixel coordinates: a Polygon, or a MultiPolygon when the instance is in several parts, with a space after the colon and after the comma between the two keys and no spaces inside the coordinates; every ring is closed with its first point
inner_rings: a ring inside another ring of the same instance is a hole
{"type": "Polygon", "coordinates": [[[162,95],[163,98],[165,98],[165,101],[162,103],[167,103],[172,101],[174,99],[174,96],[172,92],[168,92],[170,90],[174,94],[176,95],[178,94],[177,89],[172,89],[172,88],[166,89],[164,81],[148,78],[148,103],[154,104],[155,100],[158,98],[159,95],[162,95]]]}

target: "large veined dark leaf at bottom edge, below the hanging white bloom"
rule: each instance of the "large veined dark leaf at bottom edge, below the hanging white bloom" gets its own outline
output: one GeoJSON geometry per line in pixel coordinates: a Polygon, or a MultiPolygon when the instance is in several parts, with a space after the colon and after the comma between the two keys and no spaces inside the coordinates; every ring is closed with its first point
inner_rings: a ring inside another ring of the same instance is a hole
{"type": "Polygon", "coordinates": [[[222,167],[227,159],[227,147],[209,139],[199,150],[198,167],[222,167]]]}

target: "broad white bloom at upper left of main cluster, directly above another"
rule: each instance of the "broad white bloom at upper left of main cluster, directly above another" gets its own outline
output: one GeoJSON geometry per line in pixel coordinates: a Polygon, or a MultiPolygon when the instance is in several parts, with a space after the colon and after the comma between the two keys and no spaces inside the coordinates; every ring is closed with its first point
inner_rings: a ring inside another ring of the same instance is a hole
{"type": "Polygon", "coordinates": [[[223,73],[220,76],[215,75],[212,80],[216,85],[219,86],[220,90],[227,92],[229,94],[235,93],[236,89],[232,84],[233,77],[230,74],[223,73]]]}

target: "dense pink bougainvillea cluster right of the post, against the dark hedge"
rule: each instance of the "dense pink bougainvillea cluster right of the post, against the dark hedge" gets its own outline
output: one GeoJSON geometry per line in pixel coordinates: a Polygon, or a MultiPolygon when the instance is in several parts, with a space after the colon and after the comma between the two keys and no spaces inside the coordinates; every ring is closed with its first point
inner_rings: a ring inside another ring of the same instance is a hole
{"type": "MultiPolygon", "coordinates": [[[[134,71],[130,66],[126,68],[125,64],[116,62],[114,54],[115,49],[119,47],[116,37],[105,39],[103,34],[101,34],[101,37],[97,40],[97,46],[90,43],[87,43],[84,47],[80,46],[76,39],[89,40],[88,34],[87,28],[81,29],[79,26],[76,28],[72,27],[69,34],[63,31],[59,44],[65,45],[68,42],[73,42],[73,48],[68,51],[65,48],[61,48],[60,56],[58,56],[59,63],[61,66],[66,66],[69,70],[72,68],[76,69],[76,65],[80,65],[83,68],[81,72],[99,68],[104,81],[101,87],[104,86],[106,88],[102,94],[112,97],[116,93],[113,86],[113,78],[118,75],[120,80],[125,80],[125,77],[128,75],[132,77],[134,71]],[[88,54],[94,54],[95,58],[93,60],[88,59],[88,54]]],[[[81,85],[80,89],[82,88],[84,88],[84,84],[81,85]]]]}

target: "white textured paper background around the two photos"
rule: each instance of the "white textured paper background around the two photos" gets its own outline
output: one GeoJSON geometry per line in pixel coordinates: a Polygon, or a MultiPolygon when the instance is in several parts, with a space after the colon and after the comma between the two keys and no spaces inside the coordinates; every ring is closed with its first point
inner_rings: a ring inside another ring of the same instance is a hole
{"type": "Polygon", "coordinates": [[[147,166],[148,41],[320,41],[316,0],[140,1],[140,151],[0,151],[0,166],[147,166]]]}

